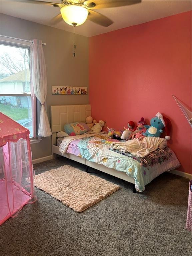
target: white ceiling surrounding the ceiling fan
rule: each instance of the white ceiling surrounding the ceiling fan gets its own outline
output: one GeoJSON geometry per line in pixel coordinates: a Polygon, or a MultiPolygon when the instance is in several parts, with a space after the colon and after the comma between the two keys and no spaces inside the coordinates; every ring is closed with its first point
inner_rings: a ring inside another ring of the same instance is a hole
{"type": "MultiPolygon", "coordinates": [[[[47,2],[60,3],[60,1],[54,0],[47,0],[47,2]]],[[[75,32],[87,37],[103,34],[120,28],[189,11],[191,10],[191,3],[191,0],[142,0],[141,3],[135,5],[97,9],[95,11],[107,16],[113,20],[114,23],[109,27],[102,27],[87,20],[84,24],[76,27],[75,32]]],[[[50,26],[49,21],[59,13],[59,8],[40,4],[1,0],[0,12],[50,26]]],[[[73,32],[73,27],[66,24],[64,21],[51,26],[73,32]]]]}

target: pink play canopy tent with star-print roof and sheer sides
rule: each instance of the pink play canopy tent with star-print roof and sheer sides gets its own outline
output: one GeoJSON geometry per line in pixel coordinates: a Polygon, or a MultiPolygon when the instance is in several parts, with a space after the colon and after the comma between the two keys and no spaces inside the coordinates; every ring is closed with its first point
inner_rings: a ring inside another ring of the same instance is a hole
{"type": "Polygon", "coordinates": [[[0,112],[0,225],[36,201],[33,179],[29,130],[0,112]]]}

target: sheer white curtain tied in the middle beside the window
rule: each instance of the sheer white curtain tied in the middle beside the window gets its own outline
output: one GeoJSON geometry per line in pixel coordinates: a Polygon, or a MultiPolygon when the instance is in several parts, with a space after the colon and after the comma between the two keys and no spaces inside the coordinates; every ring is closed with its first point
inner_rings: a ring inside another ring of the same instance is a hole
{"type": "Polygon", "coordinates": [[[47,96],[47,74],[42,41],[34,39],[30,45],[31,52],[31,78],[34,94],[41,103],[40,123],[38,135],[48,137],[52,135],[49,120],[45,110],[47,96]]]}

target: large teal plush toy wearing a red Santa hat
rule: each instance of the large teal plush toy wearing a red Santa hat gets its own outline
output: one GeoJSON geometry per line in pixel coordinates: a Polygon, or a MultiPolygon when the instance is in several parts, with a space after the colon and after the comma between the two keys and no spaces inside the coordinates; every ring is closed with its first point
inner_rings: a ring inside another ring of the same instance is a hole
{"type": "Polygon", "coordinates": [[[151,137],[160,137],[161,133],[163,133],[163,128],[165,127],[166,131],[166,140],[170,140],[170,130],[171,130],[171,122],[168,118],[164,117],[161,113],[157,113],[155,117],[153,117],[150,121],[151,125],[144,125],[147,129],[143,135],[151,136],[151,137]]]}

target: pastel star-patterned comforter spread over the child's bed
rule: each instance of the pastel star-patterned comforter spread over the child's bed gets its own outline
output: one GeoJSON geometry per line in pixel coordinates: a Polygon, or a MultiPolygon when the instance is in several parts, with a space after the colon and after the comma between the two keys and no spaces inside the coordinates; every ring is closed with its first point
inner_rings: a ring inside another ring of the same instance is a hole
{"type": "Polygon", "coordinates": [[[115,140],[109,139],[106,134],[94,135],[83,134],[66,137],[60,144],[59,150],[62,154],[67,152],[117,171],[125,172],[135,180],[135,188],[139,192],[143,192],[145,185],[159,174],[180,166],[173,151],[171,151],[172,157],[161,164],[141,166],[136,159],[109,150],[111,143],[115,140]]]}

